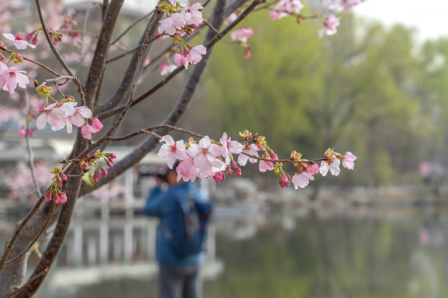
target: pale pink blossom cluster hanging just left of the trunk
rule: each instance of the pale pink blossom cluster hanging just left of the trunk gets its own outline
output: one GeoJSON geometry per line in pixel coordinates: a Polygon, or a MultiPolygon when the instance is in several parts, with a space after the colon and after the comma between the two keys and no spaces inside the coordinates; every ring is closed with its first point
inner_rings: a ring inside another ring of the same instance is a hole
{"type": "Polygon", "coordinates": [[[73,96],[66,96],[59,103],[50,95],[52,87],[43,85],[36,87],[36,91],[39,96],[45,98],[44,103],[39,107],[39,113],[41,114],[36,121],[37,128],[42,129],[48,123],[53,131],[67,127],[67,132],[72,133],[72,125],[75,125],[81,127],[82,136],[89,140],[92,138],[92,133],[103,128],[103,124],[98,118],[92,118],[92,111],[86,106],[78,106],[73,96]],[[48,105],[48,101],[52,103],[48,105]]]}

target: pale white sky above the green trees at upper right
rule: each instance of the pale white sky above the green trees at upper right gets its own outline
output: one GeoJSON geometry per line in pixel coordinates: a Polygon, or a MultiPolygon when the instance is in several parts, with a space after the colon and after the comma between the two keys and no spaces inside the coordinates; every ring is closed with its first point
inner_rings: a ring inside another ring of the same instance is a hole
{"type": "Polygon", "coordinates": [[[420,40],[448,37],[448,0],[367,0],[354,11],[389,26],[401,23],[415,27],[420,40]]]}

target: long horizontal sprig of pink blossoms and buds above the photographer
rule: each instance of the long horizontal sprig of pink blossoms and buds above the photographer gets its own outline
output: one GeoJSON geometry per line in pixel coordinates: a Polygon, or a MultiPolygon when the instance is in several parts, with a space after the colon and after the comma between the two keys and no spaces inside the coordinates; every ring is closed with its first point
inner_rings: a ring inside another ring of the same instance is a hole
{"type": "MultiPolygon", "coordinates": [[[[177,181],[181,179],[194,181],[196,177],[207,179],[213,177],[215,182],[219,183],[225,179],[225,173],[232,175],[232,168],[235,169],[237,175],[241,175],[241,169],[237,163],[240,166],[245,166],[248,161],[256,163],[260,160],[258,163],[260,172],[274,171],[279,175],[279,185],[281,187],[289,186],[291,177],[284,171],[282,161],[267,145],[265,137],[257,135],[258,133],[252,136],[252,133],[247,130],[240,132],[240,136],[243,138],[242,144],[232,141],[225,132],[219,142],[204,136],[198,144],[193,138],[190,138],[188,143],[184,143],[183,140],[175,142],[171,136],[163,136],[160,140],[163,145],[159,149],[158,155],[160,158],[168,158],[170,169],[176,159],[181,161],[176,168],[177,181]],[[253,144],[249,144],[250,142],[253,144]],[[258,151],[264,151],[261,158],[258,151]],[[233,154],[239,154],[237,162],[234,161],[233,154]]],[[[324,157],[319,159],[321,160],[319,167],[315,162],[303,159],[302,154],[293,151],[287,162],[292,162],[297,167],[297,173],[292,179],[294,188],[297,189],[307,186],[310,180],[314,180],[313,175],[316,173],[325,176],[330,171],[332,175],[339,175],[341,160],[344,167],[353,170],[356,158],[351,152],[346,152],[343,156],[328,149],[324,153],[324,157]]]]}

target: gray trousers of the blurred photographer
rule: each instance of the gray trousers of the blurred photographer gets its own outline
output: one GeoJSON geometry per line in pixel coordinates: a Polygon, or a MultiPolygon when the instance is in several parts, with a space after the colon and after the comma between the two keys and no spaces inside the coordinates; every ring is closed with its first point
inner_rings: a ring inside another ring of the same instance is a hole
{"type": "Polygon", "coordinates": [[[199,265],[159,268],[160,298],[202,298],[199,265]]]}

